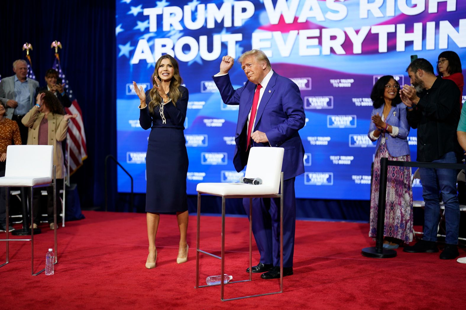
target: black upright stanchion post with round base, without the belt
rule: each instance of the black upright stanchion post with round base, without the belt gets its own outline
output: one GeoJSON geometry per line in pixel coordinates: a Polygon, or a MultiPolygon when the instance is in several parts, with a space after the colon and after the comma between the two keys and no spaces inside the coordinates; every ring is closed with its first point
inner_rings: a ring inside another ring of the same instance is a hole
{"type": "Polygon", "coordinates": [[[376,247],[363,248],[361,254],[374,258],[391,258],[397,256],[397,251],[384,249],[384,224],[385,224],[385,204],[387,198],[387,171],[388,158],[380,158],[380,186],[379,186],[379,204],[377,211],[377,237],[376,247]]]}

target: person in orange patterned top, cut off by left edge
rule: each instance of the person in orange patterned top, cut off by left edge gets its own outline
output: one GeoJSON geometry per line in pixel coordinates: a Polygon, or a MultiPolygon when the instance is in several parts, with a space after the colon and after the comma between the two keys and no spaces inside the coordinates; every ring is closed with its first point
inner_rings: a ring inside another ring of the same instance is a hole
{"type": "MultiPolygon", "coordinates": [[[[21,145],[20,128],[15,121],[5,117],[5,107],[0,104],[0,177],[5,176],[5,165],[7,163],[7,146],[14,144],[21,145]]],[[[5,187],[0,187],[0,231],[7,230],[5,187]]],[[[9,225],[8,231],[14,228],[9,225]]]]}

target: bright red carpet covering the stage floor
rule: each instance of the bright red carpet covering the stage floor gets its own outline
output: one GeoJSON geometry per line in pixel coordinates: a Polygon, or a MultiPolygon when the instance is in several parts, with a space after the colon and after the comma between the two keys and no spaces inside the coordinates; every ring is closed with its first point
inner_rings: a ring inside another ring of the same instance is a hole
{"type": "MultiPolygon", "coordinates": [[[[392,259],[363,257],[374,246],[369,224],[297,221],[293,276],[282,294],[221,302],[220,287],[194,289],[196,217],[190,216],[189,260],[176,263],[178,226],[162,215],[157,235],[157,267],[145,269],[145,214],[84,212],[85,220],[58,230],[55,275],[31,276],[30,244],[10,242],[10,263],[0,268],[1,309],[464,309],[466,265],[439,254],[392,259]]],[[[201,249],[219,255],[220,217],[202,216],[201,249]]],[[[16,227],[19,228],[19,227],[16,227]]],[[[35,238],[36,271],[43,268],[53,232],[45,225],[35,238]],[[40,266],[39,266],[40,264],[40,266]]],[[[226,220],[226,273],[233,281],[248,274],[248,222],[226,220]]],[[[5,238],[5,233],[0,233],[5,238]]],[[[253,241],[254,242],[254,241],[253,241]]],[[[5,242],[0,243],[4,262],[5,242]]],[[[460,249],[460,255],[466,256],[460,249]]],[[[259,261],[253,252],[253,265],[259,261]]],[[[220,260],[201,255],[201,284],[220,274],[220,260]]],[[[228,284],[225,297],[279,290],[279,280],[228,284]]]]}

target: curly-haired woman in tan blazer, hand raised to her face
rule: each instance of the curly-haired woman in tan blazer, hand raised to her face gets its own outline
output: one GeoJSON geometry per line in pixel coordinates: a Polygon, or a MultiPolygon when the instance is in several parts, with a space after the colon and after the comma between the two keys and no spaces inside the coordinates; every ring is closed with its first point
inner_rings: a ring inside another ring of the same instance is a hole
{"type": "MultiPolygon", "coordinates": [[[[56,165],[57,188],[63,186],[65,177],[64,156],[62,141],[65,140],[68,131],[68,120],[76,118],[77,114],[63,115],[63,107],[57,97],[50,91],[37,94],[36,105],[26,113],[21,122],[28,127],[28,145],[53,145],[54,165],[56,165]]],[[[60,191],[56,191],[57,201],[60,201],[60,191]]],[[[34,205],[40,206],[41,190],[34,190],[34,205]]],[[[47,187],[47,215],[50,229],[54,226],[53,187],[47,187]]],[[[40,207],[34,209],[34,228],[40,223],[40,207]]]]}

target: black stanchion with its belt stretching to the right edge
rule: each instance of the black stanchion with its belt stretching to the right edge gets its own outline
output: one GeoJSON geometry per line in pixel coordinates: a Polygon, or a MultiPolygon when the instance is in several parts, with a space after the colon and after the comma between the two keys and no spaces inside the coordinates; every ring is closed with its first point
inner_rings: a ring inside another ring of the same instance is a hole
{"type": "Polygon", "coordinates": [[[384,245],[384,224],[385,224],[385,203],[387,199],[387,171],[388,166],[418,167],[418,168],[441,168],[441,169],[465,169],[464,164],[448,163],[420,163],[417,161],[395,161],[388,158],[380,158],[380,187],[379,203],[377,212],[377,236],[376,246],[363,248],[361,254],[367,257],[390,258],[397,256],[397,251],[383,248],[384,245]]]}

